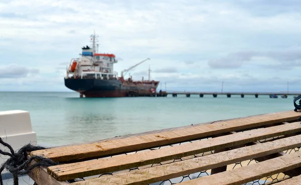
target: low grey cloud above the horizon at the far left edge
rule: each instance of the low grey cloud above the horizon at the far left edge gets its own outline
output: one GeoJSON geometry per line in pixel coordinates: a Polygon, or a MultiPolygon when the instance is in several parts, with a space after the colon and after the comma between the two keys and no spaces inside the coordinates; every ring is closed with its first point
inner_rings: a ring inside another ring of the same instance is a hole
{"type": "Polygon", "coordinates": [[[39,73],[39,69],[28,68],[17,64],[0,66],[0,71],[2,71],[0,78],[22,78],[39,73]]]}

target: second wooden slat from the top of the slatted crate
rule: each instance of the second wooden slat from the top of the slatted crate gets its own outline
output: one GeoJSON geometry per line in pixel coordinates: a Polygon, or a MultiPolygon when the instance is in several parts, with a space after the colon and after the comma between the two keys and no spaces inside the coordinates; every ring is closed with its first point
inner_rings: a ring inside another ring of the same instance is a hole
{"type": "Polygon", "coordinates": [[[157,150],[114,156],[111,158],[99,158],[97,160],[50,166],[47,168],[47,171],[59,180],[80,178],[147,164],[159,163],[206,151],[249,143],[277,135],[285,135],[300,130],[301,124],[299,122],[294,122],[210,139],[203,139],[192,143],[175,145],[172,149],[170,147],[165,147],[157,150]]]}

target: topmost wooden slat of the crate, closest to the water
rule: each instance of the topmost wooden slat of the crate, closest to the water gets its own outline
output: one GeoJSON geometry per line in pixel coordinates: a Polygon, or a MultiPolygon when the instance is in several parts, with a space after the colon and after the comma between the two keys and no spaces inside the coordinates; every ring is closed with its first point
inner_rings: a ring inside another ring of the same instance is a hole
{"type": "Polygon", "coordinates": [[[97,158],[111,154],[136,151],[177,142],[207,137],[223,132],[246,129],[277,122],[296,120],[300,112],[284,111],[255,116],[248,116],[232,120],[218,121],[213,124],[198,125],[173,131],[159,132],[135,137],[106,140],[89,144],[55,147],[32,151],[31,155],[47,156],[54,161],[80,160],[83,158],[97,158]]]}

